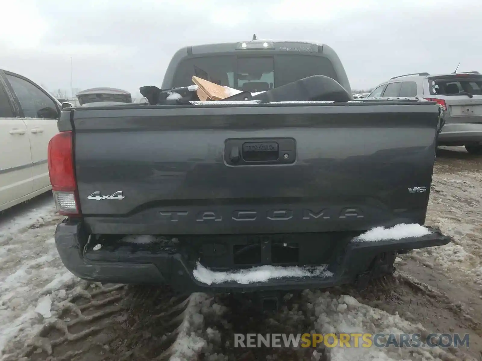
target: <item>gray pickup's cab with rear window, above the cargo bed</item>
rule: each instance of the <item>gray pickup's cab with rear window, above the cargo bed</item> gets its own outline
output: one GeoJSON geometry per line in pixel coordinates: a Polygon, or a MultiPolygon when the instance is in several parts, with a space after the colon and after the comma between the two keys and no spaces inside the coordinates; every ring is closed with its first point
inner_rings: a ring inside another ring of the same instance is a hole
{"type": "Polygon", "coordinates": [[[192,84],[192,76],[242,91],[260,92],[313,75],[335,79],[351,94],[345,69],[328,45],[252,40],[187,46],[169,63],[162,89],[192,84]]]}

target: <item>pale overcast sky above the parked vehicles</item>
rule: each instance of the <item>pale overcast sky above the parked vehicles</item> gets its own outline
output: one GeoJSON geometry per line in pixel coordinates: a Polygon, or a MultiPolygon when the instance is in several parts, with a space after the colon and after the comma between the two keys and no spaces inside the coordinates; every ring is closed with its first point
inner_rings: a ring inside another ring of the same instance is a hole
{"type": "Polygon", "coordinates": [[[352,89],[405,73],[482,71],[482,0],[9,0],[0,69],[52,92],[161,86],[176,50],[258,39],[331,46],[352,89]],[[252,3],[252,5],[250,5],[252,3]],[[239,4],[239,5],[236,5],[239,4]]]}

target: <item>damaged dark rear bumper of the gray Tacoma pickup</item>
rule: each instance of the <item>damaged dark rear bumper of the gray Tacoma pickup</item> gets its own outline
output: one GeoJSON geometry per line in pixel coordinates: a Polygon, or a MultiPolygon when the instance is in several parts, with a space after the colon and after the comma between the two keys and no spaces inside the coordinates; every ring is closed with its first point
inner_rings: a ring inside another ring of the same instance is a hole
{"type": "MultiPolygon", "coordinates": [[[[325,288],[356,281],[370,268],[377,255],[385,252],[407,251],[437,245],[446,245],[450,237],[436,229],[423,237],[380,242],[349,243],[344,254],[329,265],[330,277],[272,279],[267,282],[238,284],[204,284],[193,276],[194,265],[181,253],[111,252],[99,250],[84,257],[83,248],[88,235],[81,223],[64,221],[55,231],[55,245],[67,270],[84,280],[120,284],[170,284],[181,292],[250,292],[325,288]],[[107,253],[109,253],[107,255],[107,253]],[[95,258],[95,259],[93,259],[95,258]]],[[[93,245],[89,245],[92,248],[93,245]]],[[[87,253],[89,254],[89,252],[87,253]]]]}

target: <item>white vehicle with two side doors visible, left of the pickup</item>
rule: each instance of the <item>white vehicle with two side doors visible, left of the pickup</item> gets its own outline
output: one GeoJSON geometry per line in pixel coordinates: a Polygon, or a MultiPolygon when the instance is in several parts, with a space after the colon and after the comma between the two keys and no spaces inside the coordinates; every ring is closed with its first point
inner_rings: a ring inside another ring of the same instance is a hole
{"type": "Polygon", "coordinates": [[[0,212],[52,188],[47,145],[61,107],[40,85],[0,69],[0,212]]]}

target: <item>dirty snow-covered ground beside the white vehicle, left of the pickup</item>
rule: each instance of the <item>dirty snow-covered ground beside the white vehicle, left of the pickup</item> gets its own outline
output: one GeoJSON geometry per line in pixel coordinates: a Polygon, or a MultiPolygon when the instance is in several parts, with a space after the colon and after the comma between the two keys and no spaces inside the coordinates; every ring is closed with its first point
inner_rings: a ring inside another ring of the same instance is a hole
{"type": "Polygon", "coordinates": [[[0,216],[0,357],[9,339],[33,335],[53,316],[59,289],[74,281],[55,249],[55,225],[62,217],[52,197],[10,217],[0,216]]]}

